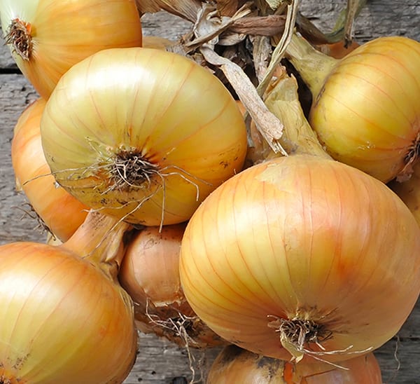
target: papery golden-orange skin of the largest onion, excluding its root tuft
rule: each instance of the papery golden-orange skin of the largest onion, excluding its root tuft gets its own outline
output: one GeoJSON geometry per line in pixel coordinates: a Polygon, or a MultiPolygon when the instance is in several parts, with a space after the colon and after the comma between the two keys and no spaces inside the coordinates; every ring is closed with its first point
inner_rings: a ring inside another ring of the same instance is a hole
{"type": "Polygon", "coordinates": [[[231,343],[290,359],[279,322],[311,320],[331,352],[316,357],[339,361],[397,333],[419,296],[419,255],[419,227],[386,185],[295,155],[254,165],[204,200],[183,236],[180,276],[195,313],[231,343]]]}

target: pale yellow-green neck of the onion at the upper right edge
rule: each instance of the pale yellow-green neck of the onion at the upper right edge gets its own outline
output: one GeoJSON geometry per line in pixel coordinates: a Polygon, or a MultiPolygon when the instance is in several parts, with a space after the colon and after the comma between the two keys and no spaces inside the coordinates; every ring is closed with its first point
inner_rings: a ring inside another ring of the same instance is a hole
{"type": "Polygon", "coordinates": [[[334,57],[319,52],[297,34],[292,36],[286,49],[286,57],[302,76],[314,98],[321,92],[326,78],[339,62],[334,57]]]}

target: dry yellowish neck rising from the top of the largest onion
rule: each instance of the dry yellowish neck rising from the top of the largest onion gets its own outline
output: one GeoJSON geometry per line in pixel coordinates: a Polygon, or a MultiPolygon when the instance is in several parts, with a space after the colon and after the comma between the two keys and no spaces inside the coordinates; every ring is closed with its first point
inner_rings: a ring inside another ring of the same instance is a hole
{"type": "Polygon", "coordinates": [[[294,77],[281,71],[266,92],[265,104],[284,125],[280,143],[289,155],[307,154],[331,158],[304,116],[294,77]]]}

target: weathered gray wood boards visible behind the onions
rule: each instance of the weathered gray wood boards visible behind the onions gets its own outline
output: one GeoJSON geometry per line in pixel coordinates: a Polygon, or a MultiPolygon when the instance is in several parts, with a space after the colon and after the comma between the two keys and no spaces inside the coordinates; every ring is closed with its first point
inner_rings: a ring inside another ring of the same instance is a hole
{"type": "MultiPolygon", "coordinates": [[[[302,0],[302,13],[323,31],[334,25],[344,1],[302,0]]],[[[367,41],[383,35],[405,35],[420,41],[420,1],[382,0],[367,1],[355,25],[356,39],[367,41]]],[[[167,13],[146,15],[144,34],[176,39],[190,23],[167,13]]],[[[13,127],[23,109],[37,97],[36,92],[19,73],[10,52],[0,41],[0,244],[19,241],[43,241],[45,233],[36,229],[36,221],[22,212],[25,197],[14,188],[13,169],[10,162],[10,140],[13,127]]],[[[420,70],[420,69],[419,69],[420,70]]],[[[389,308],[398,310],[398,308],[389,308]]],[[[393,338],[375,351],[379,359],[384,383],[420,384],[420,304],[393,338]]],[[[209,366],[218,352],[217,348],[205,351],[204,368],[209,366]]],[[[196,378],[200,378],[202,352],[195,352],[196,378]]],[[[137,362],[125,383],[188,383],[192,377],[188,353],[169,341],[140,334],[137,362]]],[[[100,384],[100,383],[98,383],[100,384]]]]}

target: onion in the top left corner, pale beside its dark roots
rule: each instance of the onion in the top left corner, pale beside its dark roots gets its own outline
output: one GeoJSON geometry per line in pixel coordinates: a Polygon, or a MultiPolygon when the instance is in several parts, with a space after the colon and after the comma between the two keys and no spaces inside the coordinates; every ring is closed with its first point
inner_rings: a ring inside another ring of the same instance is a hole
{"type": "Polygon", "coordinates": [[[16,64],[45,98],[92,53],[141,46],[134,0],[4,0],[0,19],[16,64]]]}

